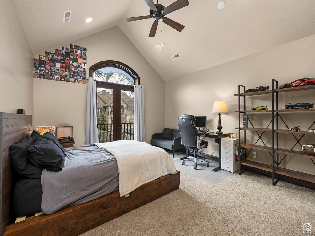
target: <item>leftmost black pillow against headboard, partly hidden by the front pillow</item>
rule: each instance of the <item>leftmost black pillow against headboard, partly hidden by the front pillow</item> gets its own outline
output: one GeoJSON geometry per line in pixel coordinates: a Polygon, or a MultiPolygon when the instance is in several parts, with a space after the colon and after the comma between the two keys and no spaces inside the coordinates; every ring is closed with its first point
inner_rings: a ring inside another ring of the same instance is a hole
{"type": "Polygon", "coordinates": [[[10,146],[11,162],[14,169],[21,175],[27,178],[40,178],[42,176],[43,168],[39,168],[26,155],[26,149],[33,143],[32,138],[26,136],[20,142],[10,146]]]}

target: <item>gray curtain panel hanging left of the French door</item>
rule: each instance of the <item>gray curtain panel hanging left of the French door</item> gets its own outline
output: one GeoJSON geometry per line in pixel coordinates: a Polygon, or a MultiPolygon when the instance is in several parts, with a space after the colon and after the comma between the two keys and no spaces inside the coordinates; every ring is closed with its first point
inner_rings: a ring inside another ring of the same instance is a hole
{"type": "Polygon", "coordinates": [[[89,78],[84,145],[98,142],[99,140],[96,121],[96,81],[93,78],[89,78]]]}

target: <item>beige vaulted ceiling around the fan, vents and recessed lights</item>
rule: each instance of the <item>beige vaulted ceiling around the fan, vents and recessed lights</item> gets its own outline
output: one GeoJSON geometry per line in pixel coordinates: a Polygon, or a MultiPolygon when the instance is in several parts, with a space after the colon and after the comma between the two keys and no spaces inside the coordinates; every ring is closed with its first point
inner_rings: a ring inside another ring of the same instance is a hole
{"type": "MultiPolygon", "coordinates": [[[[168,6],[175,0],[160,0],[168,6]]],[[[252,53],[315,34],[314,0],[189,0],[190,5],[168,17],[182,25],[178,32],[153,20],[126,22],[125,17],[148,15],[144,0],[14,0],[34,54],[118,25],[165,80],[191,74],[252,53]],[[72,10],[71,21],[62,13],[72,10]],[[84,20],[93,18],[93,24],[84,20]],[[161,51],[156,44],[166,46],[161,51]],[[171,56],[179,53],[180,58],[171,56]]],[[[156,3],[156,0],[154,0],[156,3]]]]}

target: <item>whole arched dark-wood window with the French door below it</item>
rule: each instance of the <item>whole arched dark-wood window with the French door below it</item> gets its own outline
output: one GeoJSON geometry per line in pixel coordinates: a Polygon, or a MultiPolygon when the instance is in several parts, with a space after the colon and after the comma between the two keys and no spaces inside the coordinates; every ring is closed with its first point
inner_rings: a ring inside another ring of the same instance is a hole
{"type": "Polygon", "coordinates": [[[96,110],[99,142],[134,139],[134,85],[140,77],[119,61],[92,65],[89,76],[96,81],[96,110]]]}

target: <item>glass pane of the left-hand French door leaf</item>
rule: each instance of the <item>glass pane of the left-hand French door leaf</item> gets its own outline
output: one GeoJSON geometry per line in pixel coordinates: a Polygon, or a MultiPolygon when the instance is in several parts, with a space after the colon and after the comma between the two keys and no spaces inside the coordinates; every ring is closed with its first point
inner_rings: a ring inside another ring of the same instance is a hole
{"type": "Polygon", "coordinates": [[[96,117],[99,142],[113,141],[113,90],[96,88],[96,117]]]}

